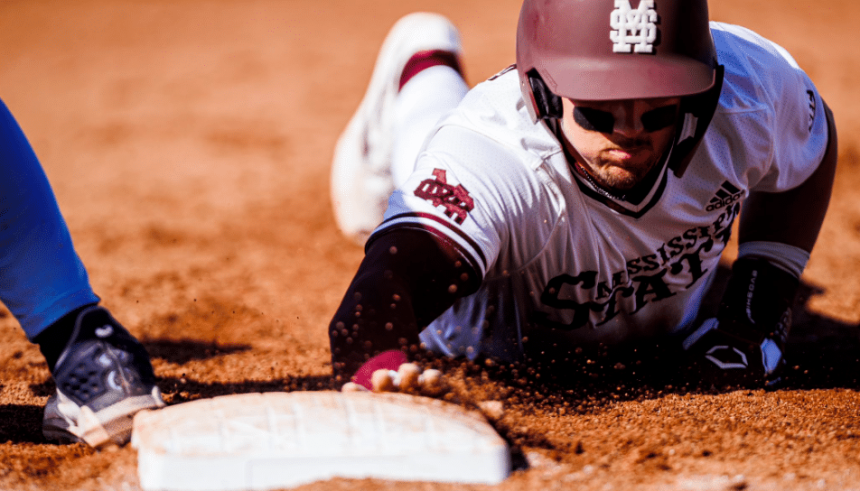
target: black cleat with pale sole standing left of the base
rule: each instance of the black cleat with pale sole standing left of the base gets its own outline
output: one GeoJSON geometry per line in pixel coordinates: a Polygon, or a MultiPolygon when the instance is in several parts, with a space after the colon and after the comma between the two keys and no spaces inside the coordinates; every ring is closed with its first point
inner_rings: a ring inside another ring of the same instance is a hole
{"type": "Polygon", "coordinates": [[[124,445],[137,412],[165,405],[143,345],[102,307],[78,315],[52,375],[57,394],[42,420],[48,440],[124,445]]]}

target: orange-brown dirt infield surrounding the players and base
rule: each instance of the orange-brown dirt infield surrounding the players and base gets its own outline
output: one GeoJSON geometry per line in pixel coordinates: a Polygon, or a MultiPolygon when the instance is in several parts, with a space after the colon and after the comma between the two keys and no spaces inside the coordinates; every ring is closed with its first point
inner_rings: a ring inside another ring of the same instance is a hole
{"type": "MultiPolygon", "coordinates": [[[[0,98],[45,167],[96,292],[152,354],[168,403],[329,387],[325,326],[362,257],[335,228],[329,166],[379,44],[405,13],[444,13],[462,28],[474,84],[513,62],[518,9],[0,2],[0,98]]],[[[711,13],[792,52],[839,125],[837,184],[803,278],[788,383],[696,391],[643,383],[629,367],[570,388],[454,365],[457,401],[505,401],[491,419],[518,470],[500,490],[860,490],[860,4],[713,0],[711,13]]],[[[133,449],[43,440],[53,382],[2,309],[0,333],[0,489],[139,489],[133,449]]],[[[336,479],[303,489],[462,487],[336,479]]]]}

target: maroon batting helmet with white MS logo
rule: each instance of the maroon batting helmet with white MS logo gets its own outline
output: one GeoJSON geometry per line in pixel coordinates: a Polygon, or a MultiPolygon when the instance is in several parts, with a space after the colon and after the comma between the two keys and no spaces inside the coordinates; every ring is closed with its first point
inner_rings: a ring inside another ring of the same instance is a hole
{"type": "Polygon", "coordinates": [[[680,174],[686,164],[678,168],[678,150],[686,156],[698,145],[722,87],[707,1],[636,2],[525,0],[517,28],[520,88],[535,122],[560,118],[560,97],[682,97],[676,145],[683,144],[670,166],[680,174]]]}

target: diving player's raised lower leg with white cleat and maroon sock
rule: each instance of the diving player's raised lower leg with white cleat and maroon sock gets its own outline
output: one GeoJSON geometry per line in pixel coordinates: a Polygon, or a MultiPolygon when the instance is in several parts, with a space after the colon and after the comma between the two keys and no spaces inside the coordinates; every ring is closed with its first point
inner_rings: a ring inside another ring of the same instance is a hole
{"type": "Polygon", "coordinates": [[[408,175],[433,124],[465,93],[458,74],[461,52],[457,29],[437,14],[407,15],[386,37],[370,85],[338,140],[332,164],[335,218],[354,241],[363,244],[382,221],[395,174],[408,175]],[[453,67],[448,70],[459,82],[451,83],[445,70],[432,69],[446,66],[453,67]],[[443,82],[432,81],[437,75],[443,82]],[[406,97],[404,104],[401,96],[406,97]],[[424,114],[428,107],[430,112],[424,114]],[[409,141],[399,143],[404,136],[409,141]]]}

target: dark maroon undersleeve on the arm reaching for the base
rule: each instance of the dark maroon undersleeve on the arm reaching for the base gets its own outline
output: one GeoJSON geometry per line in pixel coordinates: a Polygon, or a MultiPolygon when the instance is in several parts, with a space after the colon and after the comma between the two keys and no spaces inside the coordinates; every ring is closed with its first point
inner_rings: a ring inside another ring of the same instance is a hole
{"type": "Polygon", "coordinates": [[[418,333],[481,278],[450,243],[426,230],[371,237],[364,260],[329,324],[332,371],[345,383],[370,357],[415,353],[418,333]]]}

